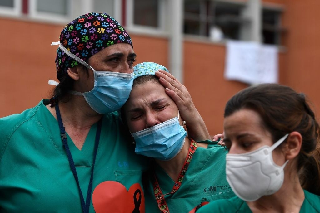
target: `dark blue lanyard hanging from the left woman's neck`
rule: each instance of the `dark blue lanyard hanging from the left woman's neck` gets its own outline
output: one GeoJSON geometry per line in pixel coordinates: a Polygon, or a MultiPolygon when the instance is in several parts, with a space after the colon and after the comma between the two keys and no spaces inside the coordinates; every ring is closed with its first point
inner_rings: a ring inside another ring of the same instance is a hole
{"type": "Polygon", "coordinates": [[[68,160],[69,160],[69,164],[70,164],[70,168],[71,168],[73,176],[75,177],[75,180],[76,180],[77,185],[78,185],[82,212],[83,213],[88,213],[89,212],[89,208],[90,208],[90,202],[91,202],[93,169],[94,169],[94,163],[96,161],[97,150],[98,150],[98,146],[99,146],[102,118],[98,122],[98,127],[97,127],[97,132],[96,132],[96,139],[95,139],[95,143],[94,143],[94,153],[93,153],[93,163],[92,163],[92,169],[91,169],[91,177],[90,177],[89,186],[88,186],[87,199],[86,199],[86,202],[84,202],[84,197],[83,197],[83,194],[82,194],[82,191],[81,191],[81,188],[80,188],[79,179],[78,179],[78,175],[77,175],[77,171],[76,171],[76,166],[75,166],[75,163],[74,163],[74,161],[72,159],[71,152],[70,152],[70,149],[69,149],[69,146],[68,146],[68,143],[67,143],[67,134],[66,134],[64,126],[62,124],[62,119],[61,119],[58,103],[56,104],[55,108],[56,108],[58,123],[59,123],[59,127],[60,127],[62,143],[63,143],[64,148],[66,149],[68,160]]]}

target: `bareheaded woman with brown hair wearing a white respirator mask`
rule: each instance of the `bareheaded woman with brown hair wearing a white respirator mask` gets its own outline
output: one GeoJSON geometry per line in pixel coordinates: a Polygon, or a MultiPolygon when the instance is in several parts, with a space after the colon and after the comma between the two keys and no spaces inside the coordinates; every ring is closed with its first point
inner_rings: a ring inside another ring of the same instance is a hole
{"type": "Polygon", "coordinates": [[[226,174],[238,197],[197,213],[320,212],[320,128],[305,95],[252,86],[228,101],[224,116],[226,174]]]}

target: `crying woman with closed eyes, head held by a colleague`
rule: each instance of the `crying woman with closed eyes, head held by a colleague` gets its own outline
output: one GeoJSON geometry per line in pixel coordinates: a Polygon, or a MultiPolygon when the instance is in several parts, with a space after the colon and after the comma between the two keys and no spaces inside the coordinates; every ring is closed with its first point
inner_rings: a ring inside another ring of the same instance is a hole
{"type": "Polygon", "coordinates": [[[167,71],[152,62],[134,66],[132,91],[121,111],[135,152],[154,158],[144,183],[146,212],[188,212],[201,201],[234,196],[225,175],[227,150],[218,141],[188,137],[185,114],[155,77],[158,69],[167,71]]]}

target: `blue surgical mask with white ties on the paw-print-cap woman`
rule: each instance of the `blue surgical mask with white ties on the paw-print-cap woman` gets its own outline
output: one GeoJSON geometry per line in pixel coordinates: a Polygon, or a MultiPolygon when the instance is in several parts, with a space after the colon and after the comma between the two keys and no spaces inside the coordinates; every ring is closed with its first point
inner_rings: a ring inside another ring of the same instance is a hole
{"type": "Polygon", "coordinates": [[[95,71],[81,58],[69,52],[60,42],[53,42],[51,45],[54,44],[59,44],[60,49],[68,56],[93,71],[94,86],[92,90],[84,93],[70,91],[71,94],[84,96],[89,106],[99,114],[119,110],[124,105],[131,92],[133,73],[95,71]]]}

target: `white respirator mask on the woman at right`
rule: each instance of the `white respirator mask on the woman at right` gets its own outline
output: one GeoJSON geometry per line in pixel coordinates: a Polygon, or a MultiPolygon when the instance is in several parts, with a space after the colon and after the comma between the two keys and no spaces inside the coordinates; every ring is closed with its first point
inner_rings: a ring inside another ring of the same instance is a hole
{"type": "Polygon", "coordinates": [[[276,193],[284,181],[284,167],[288,160],[278,166],[272,158],[272,151],[289,134],[271,147],[263,146],[244,154],[227,154],[227,180],[234,193],[244,201],[256,201],[264,195],[276,193]]]}

